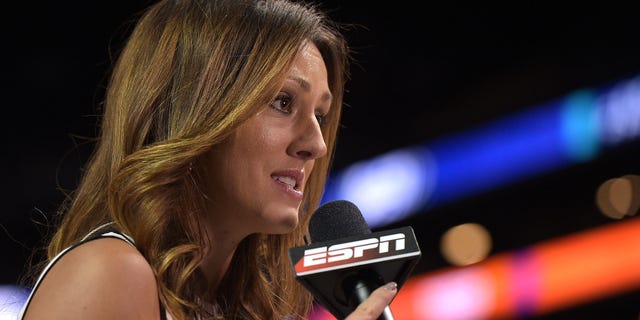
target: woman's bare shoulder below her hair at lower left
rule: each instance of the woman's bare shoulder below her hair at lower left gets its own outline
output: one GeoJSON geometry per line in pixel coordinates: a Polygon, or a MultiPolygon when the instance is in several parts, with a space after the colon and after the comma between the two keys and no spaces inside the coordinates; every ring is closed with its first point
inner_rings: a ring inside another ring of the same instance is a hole
{"type": "Polygon", "coordinates": [[[153,270],[115,238],[67,252],[40,283],[25,319],[159,319],[153,270]]]}

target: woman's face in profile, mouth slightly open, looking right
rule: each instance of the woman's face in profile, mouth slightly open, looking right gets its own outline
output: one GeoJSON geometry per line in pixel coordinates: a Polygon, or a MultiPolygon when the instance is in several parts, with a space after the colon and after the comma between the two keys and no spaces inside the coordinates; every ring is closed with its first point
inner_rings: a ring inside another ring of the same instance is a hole
{"type": "Polygon", "coordinates": [[[324,61],[308,44],[278,96],[211,151],[208,195],[218,232],[293,230],[315,159],[327,153],[320,129],[330,105],[324,61]]]}

